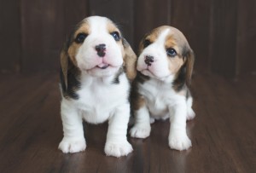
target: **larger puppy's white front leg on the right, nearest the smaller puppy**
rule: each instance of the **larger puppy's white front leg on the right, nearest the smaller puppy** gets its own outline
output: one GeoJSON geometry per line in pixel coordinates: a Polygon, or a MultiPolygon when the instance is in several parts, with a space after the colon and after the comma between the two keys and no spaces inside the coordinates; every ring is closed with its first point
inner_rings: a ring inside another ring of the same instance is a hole
{"type": "Polygon", "coordinates": [[[108,134],[105,153],[120,157],[131,153],[131,144],[127,141],[127,127],[130,118],[130,104],[118,107],[108,121],[108,134]]]}

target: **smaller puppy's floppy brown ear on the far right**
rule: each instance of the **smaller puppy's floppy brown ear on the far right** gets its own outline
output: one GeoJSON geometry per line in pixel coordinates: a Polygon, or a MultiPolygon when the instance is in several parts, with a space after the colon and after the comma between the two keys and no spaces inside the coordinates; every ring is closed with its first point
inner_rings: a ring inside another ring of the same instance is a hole
{"type": "Polygon", "coordinates": [[[195,55],[192,49],[189,49],[188,54],[186,55],[186,84],[191,83],[191,76],[194,68],[195,55]]]}

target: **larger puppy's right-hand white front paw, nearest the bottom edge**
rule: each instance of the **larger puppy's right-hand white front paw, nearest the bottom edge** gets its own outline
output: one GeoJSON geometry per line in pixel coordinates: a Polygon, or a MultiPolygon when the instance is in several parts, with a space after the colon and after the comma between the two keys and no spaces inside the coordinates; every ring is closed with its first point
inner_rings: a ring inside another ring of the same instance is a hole
{"type": "Polygon", "coordinates": [[[128,141],[123,143],[106,142],[105,153],[107,156],[114,156],[119,158],[120,156],[127,156],[128,153],[132,152],[131,144],[128,141]]]}

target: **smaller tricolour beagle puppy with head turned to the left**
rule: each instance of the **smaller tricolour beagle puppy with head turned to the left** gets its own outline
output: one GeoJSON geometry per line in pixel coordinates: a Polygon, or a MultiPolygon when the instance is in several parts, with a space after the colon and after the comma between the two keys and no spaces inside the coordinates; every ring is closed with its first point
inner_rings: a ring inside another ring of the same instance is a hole
{"type": "Polygon", "coordinates": [[[195,117],[188,86],[194,54],[183,33],[172,26],[160,26],[148,33],[139,46],[137,78],[131,92],[135,124],[132,137],[146,138],[154,119],[170,118],[169,146],[191,147],[186,120],[195,117]]]}

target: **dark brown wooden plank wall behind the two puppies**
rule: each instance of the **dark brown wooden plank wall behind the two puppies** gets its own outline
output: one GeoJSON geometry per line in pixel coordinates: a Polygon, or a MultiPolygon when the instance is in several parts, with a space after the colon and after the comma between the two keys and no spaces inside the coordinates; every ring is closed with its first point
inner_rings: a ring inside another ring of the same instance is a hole
{"type": "Polygon", "coordinates": [[[254,0],[20,0],[0,1],[0,70],[58,71],[71,28],[89,15],[119,24],[137,50],[156,26],[180,29],[195,51],[195,69],[236,78],[256,72],[254,0]]]}

